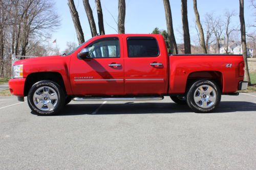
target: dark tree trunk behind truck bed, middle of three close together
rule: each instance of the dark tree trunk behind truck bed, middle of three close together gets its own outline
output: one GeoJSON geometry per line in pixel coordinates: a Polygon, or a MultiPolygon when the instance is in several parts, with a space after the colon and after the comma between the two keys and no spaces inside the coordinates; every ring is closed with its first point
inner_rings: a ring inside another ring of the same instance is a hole
{"type": "Polygon", "coordinates": [[[191,54],[190,35],[187,20],[187,0],[181,0],[181,15],[183,25],[183,38],[184,38],[184,52],[191,54]]]}

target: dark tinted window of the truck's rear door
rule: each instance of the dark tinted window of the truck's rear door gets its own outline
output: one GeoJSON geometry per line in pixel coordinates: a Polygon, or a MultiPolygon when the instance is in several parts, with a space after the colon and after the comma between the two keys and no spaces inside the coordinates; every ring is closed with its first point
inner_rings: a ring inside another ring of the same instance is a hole
{"type": "Polygon", "coordinates": [[[128,57],[158,57],[159,46],[154,37],[127,37],[128,57]]]}

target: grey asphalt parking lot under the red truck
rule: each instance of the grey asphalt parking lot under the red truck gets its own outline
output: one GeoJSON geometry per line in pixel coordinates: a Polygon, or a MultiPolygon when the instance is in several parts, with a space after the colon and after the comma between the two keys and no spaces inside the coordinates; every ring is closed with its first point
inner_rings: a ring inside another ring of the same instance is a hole
{"type": "Polygon", "coordinates": [[[215,113],[169,98],[71,102],[37,116],[0,97],[0,169],[256,169],[256,93],[222,96],[215,113]]]}

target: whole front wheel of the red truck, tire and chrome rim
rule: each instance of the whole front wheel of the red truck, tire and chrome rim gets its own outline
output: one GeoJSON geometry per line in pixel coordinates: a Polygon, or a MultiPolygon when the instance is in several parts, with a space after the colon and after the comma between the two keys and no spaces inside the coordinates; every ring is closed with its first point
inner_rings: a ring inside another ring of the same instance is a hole
{"type": "Polygon", "coordinates": [[[30,109],[38,115],[53,115],[65,105],[65,93],[55,82],[42,80],[35,83],[28,93],[30,109]]]}

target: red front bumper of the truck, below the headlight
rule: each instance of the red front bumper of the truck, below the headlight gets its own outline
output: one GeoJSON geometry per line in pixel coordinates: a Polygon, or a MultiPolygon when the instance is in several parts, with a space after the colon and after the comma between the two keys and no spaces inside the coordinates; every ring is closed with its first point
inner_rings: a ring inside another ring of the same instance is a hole
{"type": "Polygon", "coordinates": [[[9,80],[9,89],[10,89],[11,94],[23,97],[25,81],[26,81],[26,78],[10,79],[9,80]]]}

